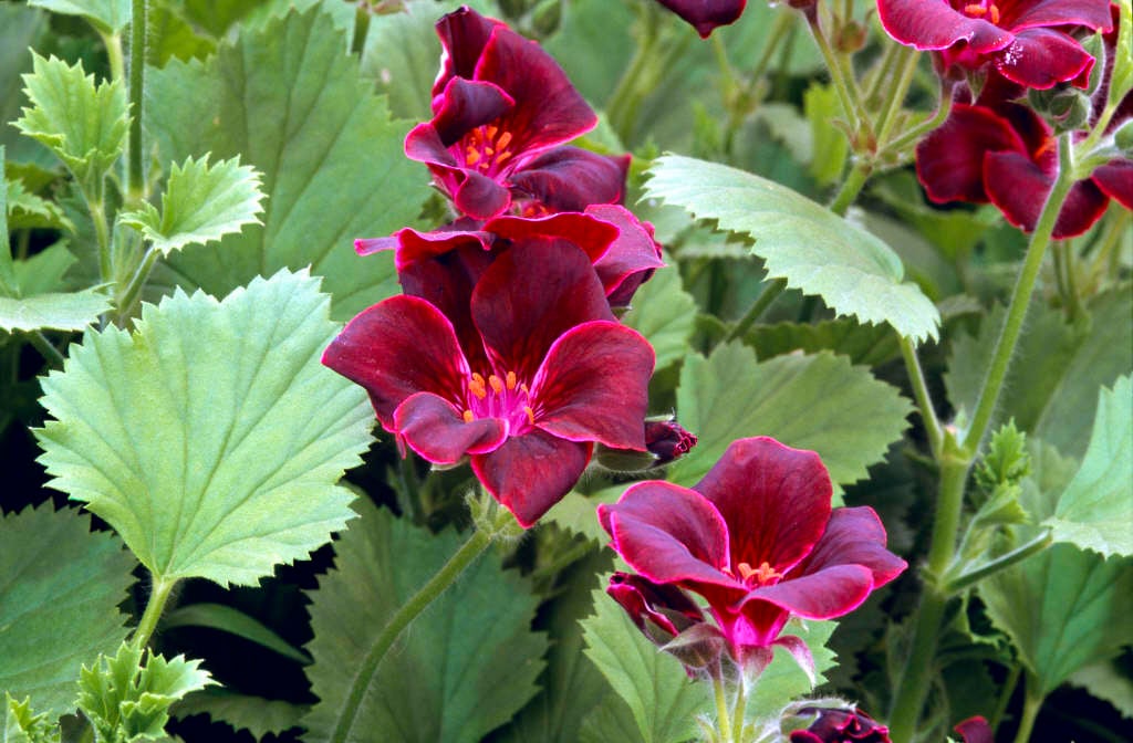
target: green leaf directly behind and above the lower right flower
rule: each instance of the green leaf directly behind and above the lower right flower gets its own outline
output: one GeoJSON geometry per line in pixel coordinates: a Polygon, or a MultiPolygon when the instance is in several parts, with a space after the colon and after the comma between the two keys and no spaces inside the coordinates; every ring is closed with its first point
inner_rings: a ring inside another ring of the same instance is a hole
{"type": "Polygon", "coordinates": [[[685,357],[676,410],[681,425],[699,437],[671,467],[676,482],[699,480],[736,438],[773,436],[818,452],[830,479],[850,485],[901,437],[912,408],[896,388],[844,357],[823,352],[756,362],[751,349],[730,343],[708,358],[685,357]]]}

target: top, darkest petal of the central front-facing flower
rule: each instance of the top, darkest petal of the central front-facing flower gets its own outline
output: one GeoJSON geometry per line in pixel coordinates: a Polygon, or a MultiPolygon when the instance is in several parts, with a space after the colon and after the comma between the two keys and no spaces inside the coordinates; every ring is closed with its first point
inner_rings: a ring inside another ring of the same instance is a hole
{"type": "Polygon", "coordinates": [[[472,291],[471,314],[493,362],[525,379],[568,330],[614,319],[586,254],[561,241],[501,254],[472,291]]]}

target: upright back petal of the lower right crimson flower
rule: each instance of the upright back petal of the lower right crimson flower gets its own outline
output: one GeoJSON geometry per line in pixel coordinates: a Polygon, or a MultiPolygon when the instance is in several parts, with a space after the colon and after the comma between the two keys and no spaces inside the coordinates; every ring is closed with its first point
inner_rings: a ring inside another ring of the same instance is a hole
{"type": "Polygon", "coordinates": [[[693,486],[729,524],[760,524],[731,532],[731,569],[767,563],[778,573],[794,567],[823,536],[830,518],[830,477],[815,452],[774,438],[732,442],[693,486]]]}

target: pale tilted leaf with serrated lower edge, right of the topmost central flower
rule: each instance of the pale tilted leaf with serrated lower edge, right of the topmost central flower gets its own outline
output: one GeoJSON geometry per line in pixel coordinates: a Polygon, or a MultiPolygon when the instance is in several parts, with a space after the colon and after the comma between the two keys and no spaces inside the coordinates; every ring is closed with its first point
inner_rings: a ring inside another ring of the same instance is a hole
{"type": "Polygon", "coordinates": [[[937,336],[940,316],[880,239],[774,181],[691,157],[666,155],[649,169],[646,196],[755,238],[767,274],[819,294],[841,315],[887,322],[902,335],[937,336]]]}

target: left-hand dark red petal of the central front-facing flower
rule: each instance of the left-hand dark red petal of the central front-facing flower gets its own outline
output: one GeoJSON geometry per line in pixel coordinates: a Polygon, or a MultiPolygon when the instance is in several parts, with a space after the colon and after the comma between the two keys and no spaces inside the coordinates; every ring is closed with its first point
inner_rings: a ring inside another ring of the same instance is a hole
{"type": "Polygon", "coordinates": [[[387,430],[395,430],[393,413],[406,398],[432,392],[460,400],[469,375],[452,323],[427,301],[403,296],[347,323],[323,364],[366,388],[387,430]]]}

